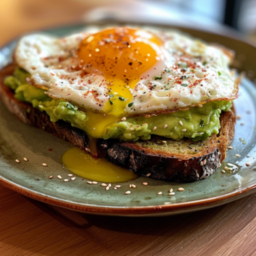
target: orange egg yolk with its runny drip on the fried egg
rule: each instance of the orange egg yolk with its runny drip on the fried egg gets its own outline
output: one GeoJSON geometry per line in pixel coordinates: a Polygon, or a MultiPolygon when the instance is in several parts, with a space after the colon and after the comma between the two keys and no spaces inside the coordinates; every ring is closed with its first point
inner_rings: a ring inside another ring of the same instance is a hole
{"type": "Polygon", "coordinates": [[[162,40],[144,30],[118,27],[89,35],[78,48],[88,73],[104,75],[109,100],[104,114],[87,111],[87,133],[100,138],[106,127],[126,117],[133,89],[142,75],[162,60],[162,40]]]}

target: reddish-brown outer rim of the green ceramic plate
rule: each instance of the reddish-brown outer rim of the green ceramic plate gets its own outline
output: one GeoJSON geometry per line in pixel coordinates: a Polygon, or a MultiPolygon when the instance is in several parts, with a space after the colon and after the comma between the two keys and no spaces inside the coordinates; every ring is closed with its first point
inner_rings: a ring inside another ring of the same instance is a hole
{"type": "MultiPolygon", "coordinates": [[[[249,40],[245,40],[245,38],[242,37],[242,34],[239,34],[237,31],[229,29],[227,27],[223,27],[223,29],[228,32],[228,34],[225,34],[223,31],[210,31],[205,30],[202,28],[197,28],[193,26],[183,26],[183,25],[177,25],[177,24],[150,24],[150,23],[139,23],[139,22],[118,22],[118,21],[110,21],[110,24],[137,24],[137,25],[146,25],[146,26],[155,26],[155,27],[169,27],[172,29],[187,29],[187,30],[194,30],[194,31],[200,31],[206,34],[213,34],[213,35],[219,35],[222,37],[226,37],[233,40],[238,40],[242,43],[246,43],[249,46],[252,46],[256,50],[256,44],[250,42],[249,40]]],[[[58,29],[64,29],[64,28],[72,28],[72,27],[80,27],[80,26],[89,26],[94,25],[98,23],[77,23],[77,24],[71,24],[71,25],[63,25],[63,26],[56,26],[51,28],[43,28],[40,30],[32,30],[26,34],[31,34],[36,31],[42,31],[42,32],[49,32],[54,31],[58,29]]],[[[14,37],[12,40],[9,40],[7,43],[4,43],[2,46],[0,46],[0,50],[2,50],[5,47],[8,47],[11,45],[11,43],[16,42],[21,36],[14,37]]],[[[200,181],[199,181],[200,182],[200,181]]],[[[155,206],[98,206],[94,204],[88,204],[88,203],[75,203],[73,201],[61,199],[59,197],[53,197],[49,196],[44,193],[37,192],[36,190],[31,190],[30,188],[24,187],[21,184],[14,183],[13,181],[8,180],[7,178],[2,177],[0,174],[0,184],[4,187],[7,187],[11,190],[14,190],[15,192],[18,192],[19,194],[30,197],[31,199],[38,200],[43,203],[49,203],[54,206],[60,206],[62,208],[66,208],[69,210],[75,210],[82,213],[91,213],[91,214],[98,214],[98,215],[108,215],[108,216],[170,216],[180,213],[190,213],[195,212],[198,210],[206,210],[209,208],[212,208],[214,206],[221,206],[226,203],[230,203],[232,201],[241,199],[242,197],[246,197],[250,194],[256,193],[256,183],[252,184],[249,187],[236,189],[232,192],[229,192],[228,194],[222,194],[220,196],[216,197],[210,197],[200,200],[192,200],[188,202],[183,203],[171,203],[169,204],[162,204],[162,205],[155,205],[155,206]]]]}

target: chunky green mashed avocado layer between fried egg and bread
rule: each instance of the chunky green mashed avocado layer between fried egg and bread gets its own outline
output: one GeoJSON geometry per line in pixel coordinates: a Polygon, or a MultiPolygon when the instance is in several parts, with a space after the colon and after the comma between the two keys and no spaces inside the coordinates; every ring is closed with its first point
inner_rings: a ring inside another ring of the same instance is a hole
{"type": "Polygon", "coordinates": [[[29,102],[33,107],[45,111],[52,122],[64,120],[85,130],[88,135],[103,139],[136,141],[150,139],[154,134],[170,139],[178,140],[185,137],[198,141],[213,133],[219,133],[220,114],[232,107],[232,101],[213,101],[204,104],[203,107],[191,107],[190,110],[180,110],[171,114],[158,114],[149,118],[129,117],[125,121],[120,120],[106,125],[104,133],[99,135],[88,125],[90,115],[68,101],[48,97],[43,89],[27,83],[29,77],[30,75],[23,69],[15,69],[14,75],[5,78],[5,85],[14,91],[14,97],[19,101],[29,102]]]}

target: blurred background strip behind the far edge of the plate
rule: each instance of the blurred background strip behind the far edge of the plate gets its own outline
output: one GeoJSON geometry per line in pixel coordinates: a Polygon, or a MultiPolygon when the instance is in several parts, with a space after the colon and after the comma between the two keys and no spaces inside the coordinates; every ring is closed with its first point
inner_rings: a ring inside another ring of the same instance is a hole
{"type": "Polygon", "coordinates": [[[86,21],[178,24],[254,39],[256,0],[1,0],[0,45],[31,30],[86,21]]]}

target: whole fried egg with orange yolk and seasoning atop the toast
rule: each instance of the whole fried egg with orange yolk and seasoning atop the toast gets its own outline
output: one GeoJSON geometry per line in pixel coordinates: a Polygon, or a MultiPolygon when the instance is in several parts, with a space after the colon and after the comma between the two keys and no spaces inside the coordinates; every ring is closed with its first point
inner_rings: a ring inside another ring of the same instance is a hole
{"type": "Polygon", "coordinates": [[[92,127],[235,99],[231,60],[218,46],[180,32],[132,27],[64,38],[31,34],[14,53],[32,85],[78,105],[92,127]]]}

